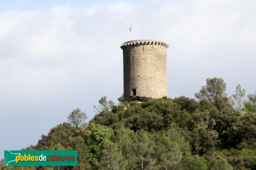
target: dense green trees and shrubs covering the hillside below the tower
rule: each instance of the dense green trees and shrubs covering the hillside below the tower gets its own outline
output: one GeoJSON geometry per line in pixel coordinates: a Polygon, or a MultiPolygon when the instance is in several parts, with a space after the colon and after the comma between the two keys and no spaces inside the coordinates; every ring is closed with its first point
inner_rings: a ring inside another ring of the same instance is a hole
{"type": "MultiPolygon", "coordinates": [[[[79,108],[24,150],[78,150],[77,167],[37,170],[256,170],[256,94],[238,85],[233,98],[221,78],[208,78],[196,99],[146,99],[114,105],[96,116],[79,108]]],[[[20,167],[9,167],[9,169],[20,167]]],[[[0,168],[1,169],[1,168],[0,168]]],[[[3,166],[2,166],[3,169],[3,166]]]]}

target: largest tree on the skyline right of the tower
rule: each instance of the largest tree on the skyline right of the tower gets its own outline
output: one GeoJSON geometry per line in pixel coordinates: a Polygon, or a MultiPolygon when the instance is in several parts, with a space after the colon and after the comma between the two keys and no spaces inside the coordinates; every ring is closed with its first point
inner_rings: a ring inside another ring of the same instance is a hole
{"type": "Polygon", "coordinates": [[[206,79],[206,85],[202,86],[202,89],[195,94],[195,97],[199,100],[207,99],[209,102],[214,101],[215,96],[226,97],[226,83],[223,79],[213,77],[206,79]]]}

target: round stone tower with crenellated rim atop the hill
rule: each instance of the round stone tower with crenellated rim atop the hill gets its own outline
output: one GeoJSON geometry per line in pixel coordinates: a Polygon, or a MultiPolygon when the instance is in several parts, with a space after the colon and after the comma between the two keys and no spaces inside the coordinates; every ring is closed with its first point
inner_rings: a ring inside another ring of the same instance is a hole
{"type": "Polygon", "coordinates": [[[124,100],[167,96],[166,48],[157,40],[123,43],[124,100]]]}

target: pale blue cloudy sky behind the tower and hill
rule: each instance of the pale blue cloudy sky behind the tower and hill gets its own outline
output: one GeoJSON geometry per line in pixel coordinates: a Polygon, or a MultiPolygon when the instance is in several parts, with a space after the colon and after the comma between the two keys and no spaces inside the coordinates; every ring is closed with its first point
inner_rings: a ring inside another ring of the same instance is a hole
{"type": "Polygon", "coordinates": [[[168,97],[220,77],[256,91],[255,0],[9,0],[0,2],[0,159],[35,145],[81,108],[123,93],[123,42],[161,40],[168,97]],[[132,32],[130,33],[130,23],[132,32]]]}

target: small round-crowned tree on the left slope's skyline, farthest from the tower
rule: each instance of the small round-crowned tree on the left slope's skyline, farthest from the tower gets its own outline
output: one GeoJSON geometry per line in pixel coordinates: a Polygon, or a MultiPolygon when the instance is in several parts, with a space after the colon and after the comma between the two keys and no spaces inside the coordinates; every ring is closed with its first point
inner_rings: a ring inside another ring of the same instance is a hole
{"type": "Polygon", "coordinates": [[[70,115],[67,116],[67,121],[71,123],[71,125],[82,126],[85,124],[85,120],[87,119],[87,115],[85,112],[81,111],[81,109],[77,108],[70,112],[70,115]]]}

